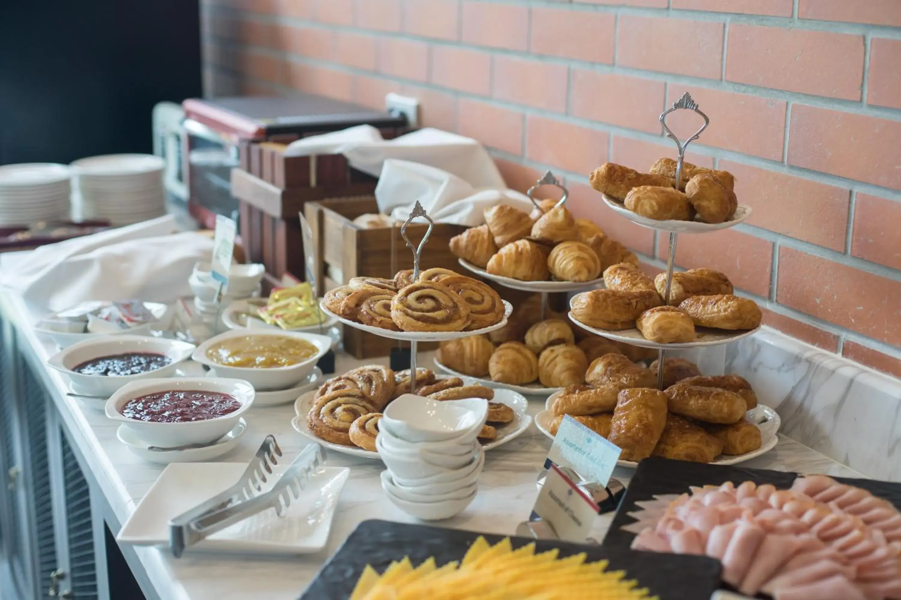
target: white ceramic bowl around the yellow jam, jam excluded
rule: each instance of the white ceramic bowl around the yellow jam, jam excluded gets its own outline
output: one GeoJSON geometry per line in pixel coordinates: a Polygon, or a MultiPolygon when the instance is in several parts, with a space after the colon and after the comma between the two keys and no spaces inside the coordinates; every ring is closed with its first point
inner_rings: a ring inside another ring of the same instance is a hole
{"type": "Polygon", "coordinates": [[[248,331],[247,329],[235,329],[226,331],[218,336],[211,337],[203,344],[199,345],[194,351],[192,358],[201,364],[212,367],[221,377],[230,377],[250,381],[257,390],[285,390],[292,388],[300,383],[301,380],[309,377],[313,372],[316,363],[332,348],[332,338],[329,336],[320,336],[318,334],[301,333],[297,331],[248,331]],[[316,346],[316,354],[288,367],[271,367],[271,368],[253,368],[253,367],[228,367],[223,364],[214,363],[206,357],[206,351],[210,346],[217,344],[225,339],[243,336],[269,336],[269,337],[292,337],[304,340],[316,346]]]}

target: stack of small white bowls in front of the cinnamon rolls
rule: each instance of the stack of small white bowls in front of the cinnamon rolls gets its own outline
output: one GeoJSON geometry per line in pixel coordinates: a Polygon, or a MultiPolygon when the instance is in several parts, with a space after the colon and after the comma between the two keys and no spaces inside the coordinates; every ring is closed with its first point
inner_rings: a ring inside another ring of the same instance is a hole
{"type": "Polygon", "coordinates": [[[423,521],[449,519],[476,497],[485,452],[476,439],[485,399],[433,400],[404,394],[378,421],[376,449],[385,463],[382,489],[423,521]]]}

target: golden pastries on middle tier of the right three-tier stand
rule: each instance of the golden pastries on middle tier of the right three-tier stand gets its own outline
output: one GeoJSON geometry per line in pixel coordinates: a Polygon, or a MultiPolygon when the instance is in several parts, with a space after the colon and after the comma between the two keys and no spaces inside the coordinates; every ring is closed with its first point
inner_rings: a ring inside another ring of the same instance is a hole
{"type": "Polygon", "coordinates": [[[694,342],[695,327],[747,330],[763,318],[757,302],[733,294],[729,278],[713,269],[673,273],[669,305],[663,305],[667,275],[648,277],[634,264],[604,272],[605,290],[586,291],[572,301],[572,316],[588,327],[617,331],[638,328],[660,344],[694,342]]]}

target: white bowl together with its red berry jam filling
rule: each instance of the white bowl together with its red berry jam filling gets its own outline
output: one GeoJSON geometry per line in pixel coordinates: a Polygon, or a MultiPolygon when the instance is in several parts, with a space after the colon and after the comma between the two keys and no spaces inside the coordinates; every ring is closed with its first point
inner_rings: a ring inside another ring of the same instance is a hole
{"type": "Polygon", "coordinates": [[[173,377],[132,381],[106,401],[106,416],[151,446],[213,443],[253,404],[247,381],[173,377]]]}

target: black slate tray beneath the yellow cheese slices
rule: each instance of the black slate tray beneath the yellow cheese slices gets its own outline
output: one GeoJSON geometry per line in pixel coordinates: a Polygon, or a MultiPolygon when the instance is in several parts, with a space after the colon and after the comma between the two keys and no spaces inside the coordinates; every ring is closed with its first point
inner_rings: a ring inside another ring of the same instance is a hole
{"type": "MultiPolygon", "coordinates": [[[[414,566],[430,556],[435,557],[439,566],[451,560],[460,560],[479,535],[484,535],[489,543],[499,542],[505,537],[429,525],[364,521],[357,525],[341,548],[319,570],[300,596],[301,600],[346,600],[367,564],[381,573],[392,560],[401,560],[405,556],[410,557],[414,566]]],[[[511,537],[510,540],[514,548],[535,542],[521,537],[511,537]]],[[[559,548],[560,557],[586,552],[588,561],[609,560],[609,569],[625,570],[626,578],[637,579],[640,587],[648,587],[651,595],[660,596],[660,600],[709,600],[720,583],[719,561],[706,557],[663,555],[546,540],[535,545],[536,551],[559,548]]]]}

